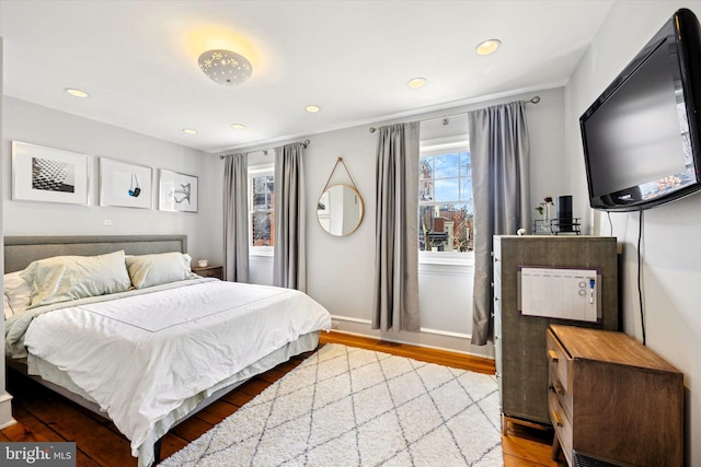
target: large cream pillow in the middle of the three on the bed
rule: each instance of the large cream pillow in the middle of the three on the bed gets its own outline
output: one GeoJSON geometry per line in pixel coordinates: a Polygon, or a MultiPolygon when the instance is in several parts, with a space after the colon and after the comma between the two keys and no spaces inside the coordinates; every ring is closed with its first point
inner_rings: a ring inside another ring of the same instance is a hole
{"type": "Polygon", "coordinates": [[[55,256],[20,273],[32,284],[31,308],[49,303],[124,292],[130,287],[124,252],[97,256],[55,256]]]}

